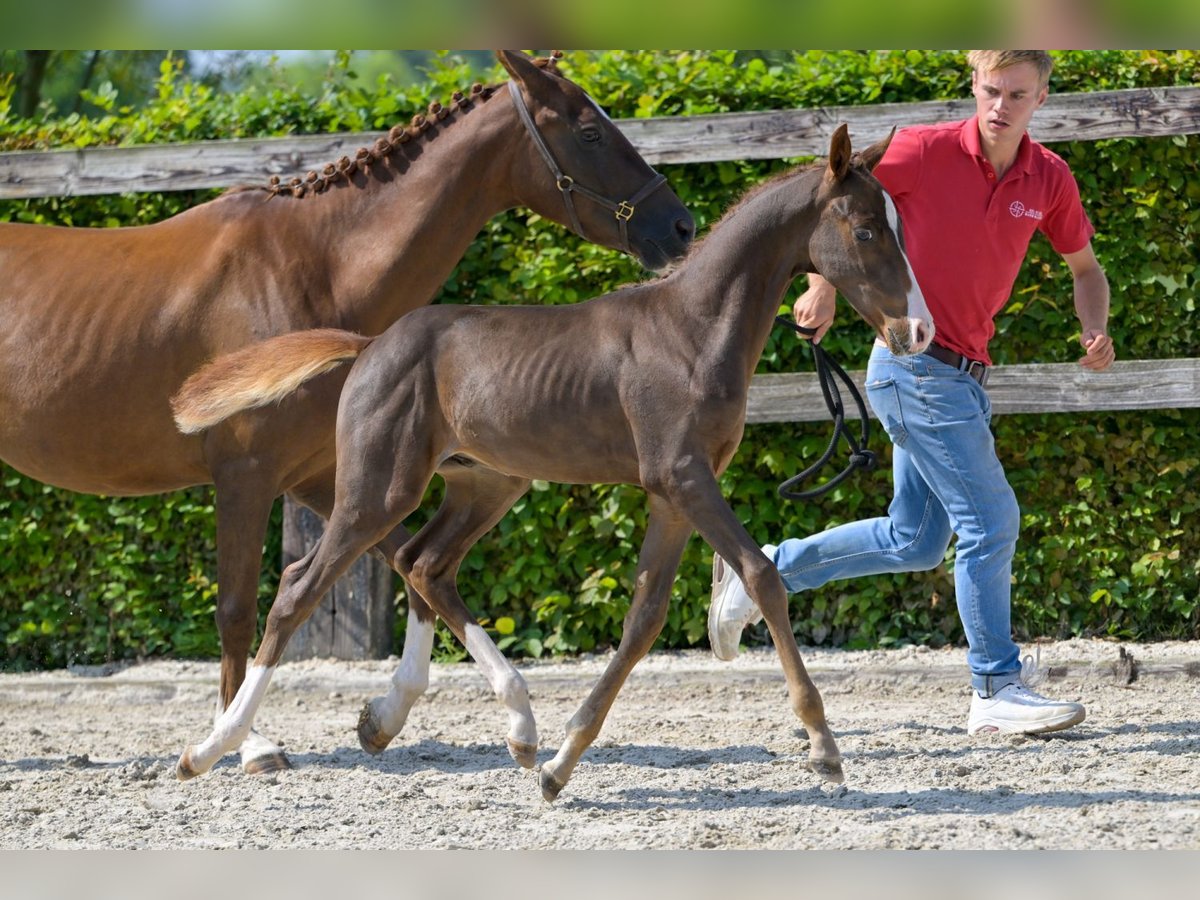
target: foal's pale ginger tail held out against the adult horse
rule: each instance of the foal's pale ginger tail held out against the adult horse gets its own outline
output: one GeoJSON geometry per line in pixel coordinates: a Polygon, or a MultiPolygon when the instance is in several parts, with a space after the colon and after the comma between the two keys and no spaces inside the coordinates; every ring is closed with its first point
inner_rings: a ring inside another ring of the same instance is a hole
{"type": "Polygon", "coordinates": [[[337,329],[293,331],[218,356],[172,397],[185,434],[211,428],[234,413],[275,403],[310,378],[356,358],[374,338],[337,329]]]}

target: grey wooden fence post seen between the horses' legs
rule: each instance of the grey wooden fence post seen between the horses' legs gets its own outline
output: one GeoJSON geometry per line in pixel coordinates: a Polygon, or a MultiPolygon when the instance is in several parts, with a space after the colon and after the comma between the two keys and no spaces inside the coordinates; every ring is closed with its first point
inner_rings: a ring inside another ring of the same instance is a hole
{"type": "MultiPolygon", "coordinates": [[[[283,500],[283,565],[304,557],[324,529],[311,510],[283,500]]],[[[385,659],[392,653],[396,590],[392,571],[366,554],[323,598],[288,642],[284,660],[332,656],[385,659]]]]}

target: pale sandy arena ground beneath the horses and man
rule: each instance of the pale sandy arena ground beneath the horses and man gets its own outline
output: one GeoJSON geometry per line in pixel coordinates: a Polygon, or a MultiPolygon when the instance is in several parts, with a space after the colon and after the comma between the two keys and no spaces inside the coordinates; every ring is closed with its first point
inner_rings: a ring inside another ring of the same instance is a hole
{"type": "MultiPolygon", "coordinates": [[[[1133,667],[1121,649],[1043,644],[1044,692],[1088,709],[1048,738],[967,737],[961,649],[806,650],[845,785],[806,769],[773,652],[656,653],[554,804],[470,664],[433,667],[378,757],[354,728],[397,660],[287,664],[257,724],[295,768],[251,778],[230,755],[186,784],[215,662],[6,674],[0,848],[1200,848],[1200,643],[1124,646],[1133,667]]],[[[539,761],[606,659],[521,667],[539,761]]]]}

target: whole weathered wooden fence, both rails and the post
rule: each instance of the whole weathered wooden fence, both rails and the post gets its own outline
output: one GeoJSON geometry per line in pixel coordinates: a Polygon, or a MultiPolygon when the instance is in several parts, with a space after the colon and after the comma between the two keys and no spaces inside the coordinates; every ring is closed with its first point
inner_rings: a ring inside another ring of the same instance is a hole
{"type": "MultiPolygon", "coordinates": [[[[857,144],[866,144],[893,127],[950,121],[972,112],[971,101],[886,103],[624,119],[617,125],[649,162],[694,163],[820,156],[840,122],[850,125],[857,144]]],[[[1045,143],[1196,134],[1200,86],[1051,95],[1030,131],[1045,143]]],[[[2,152],[0,200],[264,182],[276,174],[302,175],[352,155],[380,134],[2,152]]],[[[864,373],[852,376],[862,386],[864,373]]],[[[1074,364],[1000,366],[991,374],[988,392],[997,413],[1200,407],[1200,359],[1121,361],[1098,374],[1074,364]]],[[[756,376],[750,386],[750,424],[814,421],[826,415],[814,374],[756,376]]],[[[289,562],[307,552],[322,523],[290,503],[284,509],[284,562],[289,562]]],[[[390,570],[364,557],[331,594],[293,637],[288,658],[386,655],[394,620],[390,570]]]]}

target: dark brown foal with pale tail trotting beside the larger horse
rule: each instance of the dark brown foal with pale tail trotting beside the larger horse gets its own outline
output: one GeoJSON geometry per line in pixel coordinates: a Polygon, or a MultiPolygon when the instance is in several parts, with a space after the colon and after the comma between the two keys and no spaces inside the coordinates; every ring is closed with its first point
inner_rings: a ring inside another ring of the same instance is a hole
{"type": "MultiPolygon", "coordinates": [[[[774,566],[718,486],[742,439],[750,378],[784,293],[821,272],[898,354],[934,335],[892,199],[870,174],[890,137],[852,157],[846,126],[828,164],[794,169],[751,192],[686,260],[658,281],[574,306],[419,310],[377,338],[336,330],[286,335],[211,364],[173,401],[185,431],[287,397],[306,378],[355,360],[337,416],[337,491],[329,527],[283,572],[253,667],[210,737],[176,774],[206,772],[251,728],[271,673],[330,584],[365,550],[385,545],[508,707],[508,746],[533,767],[538,731],[526,684],[457,589],[470,546],[532,479],[626,482],[649,518],[620,644],[541,767],[554,799],[595,739],[617,691],[666,620],[684,545],[695,529],[745,582],[782,660],[792,708],[811,738],[810,764],[840,781],[841,757],[821,696],[792,637],[774,566]],[[396,526],[434,474],[445,497],[410,540],[396,526]]],[[[286,402],[286,401],[284,401],[286,402]]],[[[398,700],[372,701],[364,746],[392,738],[398,700]]]]}

